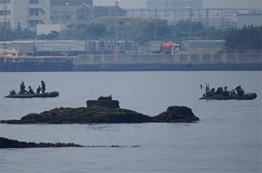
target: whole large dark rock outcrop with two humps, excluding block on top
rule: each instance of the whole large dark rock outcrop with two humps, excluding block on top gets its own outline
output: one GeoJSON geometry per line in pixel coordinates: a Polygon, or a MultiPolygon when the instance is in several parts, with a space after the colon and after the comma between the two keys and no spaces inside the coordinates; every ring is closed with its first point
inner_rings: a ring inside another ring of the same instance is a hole
{"type": "Polygon", "coordinates": [[[167,111],[151,117],[141,113],[107,107],[81,107],[81,108],[55,108],[40,114],[31,113],[21,120],[2,120],[6,124],[74,124],[74,123],[147,123],[169,122],[190,123],[199,121],[190,108],[184,106],[171,106],[167,111]]]}

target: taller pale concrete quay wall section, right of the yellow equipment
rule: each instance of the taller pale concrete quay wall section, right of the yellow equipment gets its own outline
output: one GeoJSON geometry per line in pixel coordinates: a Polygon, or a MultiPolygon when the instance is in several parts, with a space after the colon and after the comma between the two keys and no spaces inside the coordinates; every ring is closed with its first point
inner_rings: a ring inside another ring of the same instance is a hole
{"type": "Polygon", "coordinates": [[[75,71],[261,70],[261,53],[80,55],[75,71]]]}

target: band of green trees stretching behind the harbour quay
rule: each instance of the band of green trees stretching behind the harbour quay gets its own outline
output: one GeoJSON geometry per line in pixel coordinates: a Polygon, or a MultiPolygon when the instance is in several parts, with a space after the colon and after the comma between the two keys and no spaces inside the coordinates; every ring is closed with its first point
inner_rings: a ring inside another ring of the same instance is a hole
{"type": "MultiPolygon", "coordinates": [[[[157,40],[175,41],[189,40],[190,22],[179,21],[168,25],[163,19],[156,21],[157,40]]],[[[6,40],[115,40],[115,18],[100,18],[89,24],[68,25],[60,32],[36,35],[35,31],[22,30],[21,24],[15,29],[6,29],[6,40]]],[[[207,40],[207,29],[201,22],[191,22],[191,40],[207,40]]],[[[135,41],[137,45],[147,46],[155,39],[155,19],[123,17],[117,23],[118,40],[135,41]]],[[[1,41],[4,41],[4,27],[1,27],[1,41]]],[[[228,49],[261,49],[261,26],[244,26],[221,30],[209,28],[209,40],[225,40],[228,49]]]]}

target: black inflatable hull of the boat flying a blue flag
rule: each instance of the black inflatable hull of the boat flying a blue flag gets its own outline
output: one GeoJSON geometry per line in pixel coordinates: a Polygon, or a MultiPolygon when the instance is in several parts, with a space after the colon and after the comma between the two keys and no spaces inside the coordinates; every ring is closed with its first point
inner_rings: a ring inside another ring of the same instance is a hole
{"type": "Polygon", "coordinates": [[[246,93],[243,96],[238,96],[238,95],[229,95],[228,97],[224,97],[224,96],[211,96],[211,97],[207,97],[207,94],[203,94],[203,97],[200,98],[200,100],[253,100],[255,99],[257,96],[255,93],[246,93]]]}

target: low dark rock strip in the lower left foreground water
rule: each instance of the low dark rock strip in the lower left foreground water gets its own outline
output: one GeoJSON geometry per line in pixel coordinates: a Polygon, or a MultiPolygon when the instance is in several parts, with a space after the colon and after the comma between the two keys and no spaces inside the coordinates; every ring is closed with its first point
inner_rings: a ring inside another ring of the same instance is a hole
{"type": "Polygon", "coordinates": [[[18,140],[4,137],[0,137],[0,142],[0,148],[85,147],[74,143],[19,142],[18,140]]]}

